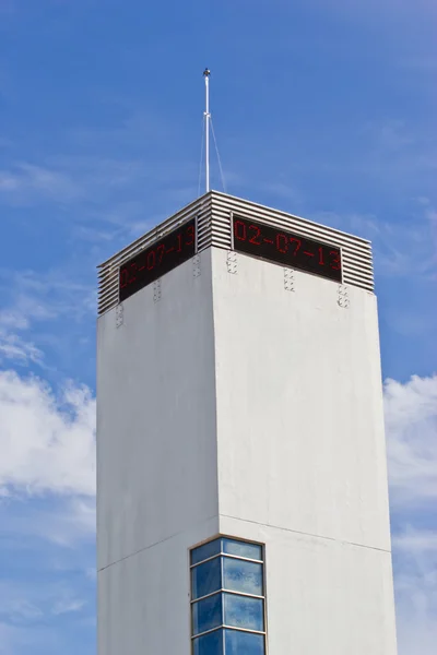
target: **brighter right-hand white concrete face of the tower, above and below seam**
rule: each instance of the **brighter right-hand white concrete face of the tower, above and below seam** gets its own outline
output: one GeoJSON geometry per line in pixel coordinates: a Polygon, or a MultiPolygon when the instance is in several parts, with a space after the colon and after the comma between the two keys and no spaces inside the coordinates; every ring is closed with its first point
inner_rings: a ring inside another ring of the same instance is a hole
{"type": "Polygon", "coordinates": [[[269,655],[394,655],[376,298],[213,252],[223,534],[265,544],[269,655]]]}

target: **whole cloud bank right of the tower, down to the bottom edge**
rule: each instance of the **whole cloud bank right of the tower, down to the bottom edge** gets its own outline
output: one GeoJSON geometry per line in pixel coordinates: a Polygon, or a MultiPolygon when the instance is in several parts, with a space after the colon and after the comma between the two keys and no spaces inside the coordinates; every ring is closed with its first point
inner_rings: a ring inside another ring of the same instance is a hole
{"type": "Polygon", "coordinates": [[[434,655],[437,643],[437,376],[385,383],[399,655],[434,655]]]}

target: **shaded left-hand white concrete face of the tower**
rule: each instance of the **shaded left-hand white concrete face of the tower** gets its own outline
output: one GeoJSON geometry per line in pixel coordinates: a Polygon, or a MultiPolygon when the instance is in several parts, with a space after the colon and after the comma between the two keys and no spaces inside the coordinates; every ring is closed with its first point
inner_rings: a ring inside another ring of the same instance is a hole
{"type": "Polygon", "coordinates": [[[188,548],[217,532],[210,251],[101,317],[97,346],[98,652],[188,655],[188,548]]]}

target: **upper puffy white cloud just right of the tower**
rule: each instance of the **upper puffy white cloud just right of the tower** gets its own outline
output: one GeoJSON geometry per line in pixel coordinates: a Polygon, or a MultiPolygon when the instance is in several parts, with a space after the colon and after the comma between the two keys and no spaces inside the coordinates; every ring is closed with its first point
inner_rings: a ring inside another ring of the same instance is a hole
{"type": "Polygon", "coordinates": [[[437,501],[437,376],[385,383],[391,501],[437,501]]]}

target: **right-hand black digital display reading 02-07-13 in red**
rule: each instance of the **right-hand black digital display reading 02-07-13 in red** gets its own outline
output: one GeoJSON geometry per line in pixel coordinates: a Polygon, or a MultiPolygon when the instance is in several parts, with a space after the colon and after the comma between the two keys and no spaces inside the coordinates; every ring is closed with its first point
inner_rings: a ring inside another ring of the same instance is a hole
{"type": "Polygon", "coordinates": [[[232,228],[234,250],[335,282],[342,281],[340,248],[241,216],[234,216],[232,228]]]}

